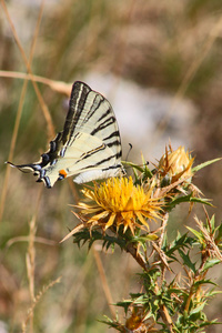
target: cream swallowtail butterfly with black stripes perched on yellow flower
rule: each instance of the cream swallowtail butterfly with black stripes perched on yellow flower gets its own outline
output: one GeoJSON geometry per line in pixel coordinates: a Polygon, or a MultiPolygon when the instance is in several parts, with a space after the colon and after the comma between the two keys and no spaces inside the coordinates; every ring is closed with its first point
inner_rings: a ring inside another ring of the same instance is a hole
{"type": "Polygon", "coordinates": [[[59,180],[75,175],[78,184],[124,174],[121,139],[109,101],[88,84],[72,85],[69,111],[50,148],[36,163],[11,167],[33,172],[37,182],[50,189],[59,180]]]}

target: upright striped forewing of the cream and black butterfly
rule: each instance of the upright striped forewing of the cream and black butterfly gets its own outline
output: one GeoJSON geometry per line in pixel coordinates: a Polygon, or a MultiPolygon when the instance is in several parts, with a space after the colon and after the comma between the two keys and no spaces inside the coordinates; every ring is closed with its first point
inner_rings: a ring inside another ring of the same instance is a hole
{"type": "Polygon", "coordinates": [[[121,157],[120,133],[112,107],[100,93],[92,91],[82,82],[75,82],[72,90],[63,129],[63,142],[67,139],[67,144],[72,144],[73,134],[77,132],[99,138],[111,149],[113,147],[113,152],[121,157]]]}

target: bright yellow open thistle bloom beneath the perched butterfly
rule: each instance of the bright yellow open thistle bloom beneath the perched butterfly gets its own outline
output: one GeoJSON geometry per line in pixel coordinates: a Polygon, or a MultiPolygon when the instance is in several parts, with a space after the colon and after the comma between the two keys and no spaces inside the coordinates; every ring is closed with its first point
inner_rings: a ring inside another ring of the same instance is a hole
{"type": "Polygon", "coordinates": [[[133,185],[132,178],[112,178],[100,185],[95,184],[94,190],[84,189],[85,198],[93,200],[94,204],[80,203],[82,215],[92,215],[88,224],[98,225],[103,230],[115,226],[117,230],[123,225],[134,234],[135,228],[147,228],[147,219],[155,220],[161,218],[160,199],[152,198],[152,186],[144,191],[142,186],[133,185]]]}

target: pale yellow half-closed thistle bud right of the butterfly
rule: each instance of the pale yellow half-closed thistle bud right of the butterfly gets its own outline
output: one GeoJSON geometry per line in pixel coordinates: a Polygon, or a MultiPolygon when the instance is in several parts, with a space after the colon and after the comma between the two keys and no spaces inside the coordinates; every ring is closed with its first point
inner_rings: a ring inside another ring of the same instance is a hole
{"type": "Polygon", "coordinates": [[[174,151],[171,147],[169,148],[170,152],[167,150],[159,162],[158,169],[160,174],[162,176],[169,175],[172,183],[179,179],[186,179],[188,182],[191,181],[191,168],[194,158],[191,158],[188,151],[185,152],[184,147],[179,147],[174,151]]]}

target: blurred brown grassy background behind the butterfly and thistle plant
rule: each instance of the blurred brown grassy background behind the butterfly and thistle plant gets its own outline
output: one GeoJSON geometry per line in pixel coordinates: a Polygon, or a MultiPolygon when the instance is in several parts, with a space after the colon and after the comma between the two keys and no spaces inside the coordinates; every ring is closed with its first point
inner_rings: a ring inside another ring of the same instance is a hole
{"type": "MultiPolygon", "coordinates": [[[[139,268],[118,249],[105,253],[98,244],[88,252],[71,239],[59,244],[77,224],[68,204],[77,203],[81,188],[63,181],[44,189],[4,161],[38,161],[62,130],[75,80],[111,102],[123,160],[131,143],[130,161],[141,163],[142,152],[155,163],[169,139],[173,149],[191,151],[195,164],[221,157],[221,0],[0,3],[0,333],[112,332],[97,321],[111,313],[93,251],[100,254],[113,303],[140,291],[133,275],[139,268]],[[36,87],[24,80],[30,69],[38,75],[36,87]]],[[[218,162],[194,180],[213,200],[215,206],[208,211],[216,214],[216,223],[222,218],[221,174],[218,162]]],[[[194,225],[194,213],[204,219],[200,208],[189,216],[174,213],[171,238],[194,225]]],[[[214,276],[222,286],[221,272],[214,276]]],[[[222,321],[221,313],[219,296],[208,307],[209,320],[222,321]]]]}

